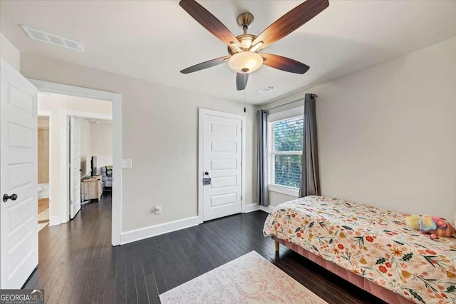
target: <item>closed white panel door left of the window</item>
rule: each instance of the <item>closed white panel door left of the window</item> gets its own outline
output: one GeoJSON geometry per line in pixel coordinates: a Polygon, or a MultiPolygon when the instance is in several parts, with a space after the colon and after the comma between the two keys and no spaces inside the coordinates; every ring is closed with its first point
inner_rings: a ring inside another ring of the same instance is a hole
{"type": "Polygon", "coordinates": [[[203,219],[209,221],[242,211],[242,118],[210,111],[202,119],[202,178],[211,178],[202,186],[203,219]]]}

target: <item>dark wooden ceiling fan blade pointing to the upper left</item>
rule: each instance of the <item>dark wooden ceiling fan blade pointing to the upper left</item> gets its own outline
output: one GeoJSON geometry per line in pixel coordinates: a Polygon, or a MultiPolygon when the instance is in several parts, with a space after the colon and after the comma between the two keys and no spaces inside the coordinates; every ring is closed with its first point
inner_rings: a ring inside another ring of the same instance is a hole
{"type": "Polygon", "coordinates": [[[224,26],[219,19],[215,18],[214,15],[209,13],[207,9],[199,5],[195,0],[181,0],[179,5],[182,9],[185,9],[190,16],[201,24],[204,29],[210,31],[218,39],[222,40],[228,46],[232,46],[231,43],[240,44],[236,36],[233,35],[227,26],[224,26]]]}

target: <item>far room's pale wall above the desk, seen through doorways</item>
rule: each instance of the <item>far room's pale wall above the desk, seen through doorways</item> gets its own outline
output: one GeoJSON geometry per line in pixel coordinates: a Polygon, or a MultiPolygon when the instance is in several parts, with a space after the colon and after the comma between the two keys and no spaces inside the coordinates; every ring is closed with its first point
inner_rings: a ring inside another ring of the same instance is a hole
{"type": "Polygon", "coordinates": [[[97,171],[100,167],[113,166],[113,126],[91,123],[90,153],[97,157],[97,171]]]}

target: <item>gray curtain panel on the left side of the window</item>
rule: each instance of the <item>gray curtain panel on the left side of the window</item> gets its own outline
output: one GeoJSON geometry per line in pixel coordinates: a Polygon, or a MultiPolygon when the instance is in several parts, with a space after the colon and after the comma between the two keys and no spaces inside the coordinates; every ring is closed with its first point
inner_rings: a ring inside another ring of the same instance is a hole
{"type": "Polygon", "coordinates": [[[260,110],[258,117],[258,142],[257,142],[257,201],[261,206],[269,206],[267,172],[267,138],[268,138],[268,113],[260,110]]]}

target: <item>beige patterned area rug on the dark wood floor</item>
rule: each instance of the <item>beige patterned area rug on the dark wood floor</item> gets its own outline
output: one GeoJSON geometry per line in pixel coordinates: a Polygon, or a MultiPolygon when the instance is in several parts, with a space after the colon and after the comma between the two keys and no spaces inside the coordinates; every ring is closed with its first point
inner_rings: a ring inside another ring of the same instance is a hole
{"type": "Polygon", "coordinates": [[[326,303],[252,251],[160,295],[177,303],[326,303]]]}

